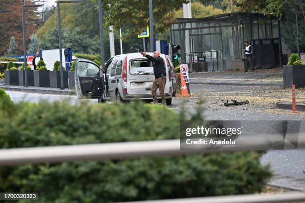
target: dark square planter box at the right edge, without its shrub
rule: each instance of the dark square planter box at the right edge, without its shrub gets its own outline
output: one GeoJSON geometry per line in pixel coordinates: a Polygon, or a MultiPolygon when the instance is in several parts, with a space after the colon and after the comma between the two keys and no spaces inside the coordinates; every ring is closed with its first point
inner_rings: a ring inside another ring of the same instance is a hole
{"type": "Polygon", "coordinates": [[[291,88],[292,85],[295,85],[296,88],[304,88],[305,65],[283,66],[283,81],[284,88],[291,88]]]}

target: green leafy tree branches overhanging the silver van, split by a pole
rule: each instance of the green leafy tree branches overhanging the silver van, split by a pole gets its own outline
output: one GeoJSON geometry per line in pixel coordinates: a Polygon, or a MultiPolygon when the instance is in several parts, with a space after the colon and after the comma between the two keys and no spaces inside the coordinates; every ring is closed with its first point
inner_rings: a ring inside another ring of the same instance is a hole
{"type": "MultiPolygon", "coordinates": [[[[154,33],[166,31],[175,21],[174,11],[186,2],[188,0],[154,0],[154,33]]],[[[103,7],[107,25],[113,25],[114,29],[117,30],[126,25],[132,25],[123,33],[124,40],[141,32],[149,24],[149,3],[147,0],[103,0],[103,7]]]]}

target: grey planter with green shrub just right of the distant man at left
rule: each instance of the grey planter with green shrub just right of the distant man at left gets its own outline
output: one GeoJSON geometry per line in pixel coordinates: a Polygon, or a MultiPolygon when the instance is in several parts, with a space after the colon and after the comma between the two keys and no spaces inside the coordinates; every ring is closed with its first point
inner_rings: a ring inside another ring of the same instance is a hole
{"type": "Polygon", "coordinates": [[[34,71],[34,86],[35,87],[50,87],[50,71],[45,67],[45,63],[40,60],[37,63],[37,68],[34,71]],[[44,66],[43,66],[44,65],[44,66]]]}

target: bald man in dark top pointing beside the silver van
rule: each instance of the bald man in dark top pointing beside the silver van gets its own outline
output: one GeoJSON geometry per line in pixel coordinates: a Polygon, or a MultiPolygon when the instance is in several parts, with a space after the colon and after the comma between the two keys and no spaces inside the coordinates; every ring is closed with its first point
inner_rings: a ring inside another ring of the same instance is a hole
{"type": "Polygon", "coordinates": [[[165,93],[164,93],[164,88],[166,83],[166,71],[165,71],[164,60],[160,57],[160,52],[158,51],[153,52],[153,57],[147,55],[145,52],[140,52],[140,53],[153,62],[153,74],[155,78],[152,83],[153,103],[158,103],[156,90],[159,88],[159,92],[161,95],[161,103],[166,105],[165,93]]]}

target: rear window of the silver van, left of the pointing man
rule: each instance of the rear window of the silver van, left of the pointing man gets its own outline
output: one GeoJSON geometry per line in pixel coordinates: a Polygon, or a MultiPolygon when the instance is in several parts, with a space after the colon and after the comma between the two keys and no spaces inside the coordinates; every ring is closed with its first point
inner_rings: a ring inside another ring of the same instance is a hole
{"type": "Polygon", "coordinates": [[[130,61],[131,74],[153,74],[152,61],[149,59],[134,59],[130,61]]]}

